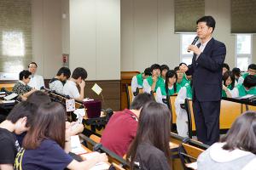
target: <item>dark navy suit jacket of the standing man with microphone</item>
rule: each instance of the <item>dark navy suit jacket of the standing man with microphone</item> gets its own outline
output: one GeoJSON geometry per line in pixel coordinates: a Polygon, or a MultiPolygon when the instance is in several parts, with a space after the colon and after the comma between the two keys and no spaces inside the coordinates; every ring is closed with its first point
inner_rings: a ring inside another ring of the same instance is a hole
{"type": "Polygon", "coordinates": [[[218,101],[221,99],[222,65],[225,55],[224,43],[218,42],[213,37],[207,42],[207,46],[198,59],[194,54],[187,73],[192,75],[193,92],[199,101],[218,101]]]}

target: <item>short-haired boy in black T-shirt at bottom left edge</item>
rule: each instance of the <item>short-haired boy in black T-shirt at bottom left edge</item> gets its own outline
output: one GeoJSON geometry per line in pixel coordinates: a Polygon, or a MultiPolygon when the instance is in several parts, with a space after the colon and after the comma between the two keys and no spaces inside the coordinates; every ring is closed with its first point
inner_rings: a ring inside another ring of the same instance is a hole
{"type": "Polygon", "coordinates": [[[11,170],[20,145],[15,134],[26,132],[31,125],[36,106],[22,101],[15,105],[6,120],[0,124],[0,169],[11,170]]]}

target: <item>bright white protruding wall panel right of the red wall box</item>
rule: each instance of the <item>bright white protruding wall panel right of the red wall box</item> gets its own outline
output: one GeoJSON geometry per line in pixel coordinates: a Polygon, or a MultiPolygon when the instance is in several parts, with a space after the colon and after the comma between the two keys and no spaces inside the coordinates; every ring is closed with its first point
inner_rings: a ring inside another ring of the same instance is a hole
{"type": "Polygon", "coordinates": [[[119,0],[71,0],[70,68],[82,66],[89,80],[119,80],[119,0]]]}

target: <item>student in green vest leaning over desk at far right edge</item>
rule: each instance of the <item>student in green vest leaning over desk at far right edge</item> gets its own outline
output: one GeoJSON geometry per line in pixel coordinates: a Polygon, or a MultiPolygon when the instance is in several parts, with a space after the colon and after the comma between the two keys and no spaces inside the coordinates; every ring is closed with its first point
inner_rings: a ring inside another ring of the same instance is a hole
{"type": "Polygon", "coordinates": [[[242,84],[238,84],[233,90],[227,90],[226,94],[229,98],[242,97],[247,94],[256,95],[256,77],[248,75],[242,84]]]}

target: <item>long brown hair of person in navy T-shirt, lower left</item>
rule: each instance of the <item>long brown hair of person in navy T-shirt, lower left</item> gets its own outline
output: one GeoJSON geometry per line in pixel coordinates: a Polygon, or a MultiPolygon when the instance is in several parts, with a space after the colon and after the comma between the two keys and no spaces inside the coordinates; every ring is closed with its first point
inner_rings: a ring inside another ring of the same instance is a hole
{"type": "Polygon", "coordinates": [[[65,120],[66,111],[61,104],[51,102],[39,105],[31,128],[23,140],[23,147],[36,149],[44,139],[52,139],[64,149],[65,120]]]}

